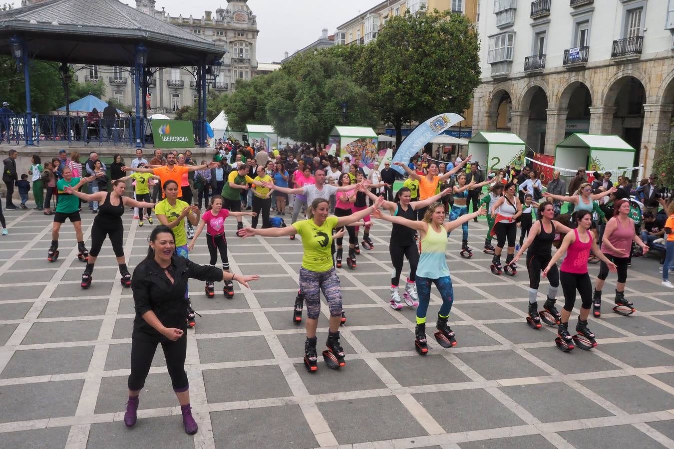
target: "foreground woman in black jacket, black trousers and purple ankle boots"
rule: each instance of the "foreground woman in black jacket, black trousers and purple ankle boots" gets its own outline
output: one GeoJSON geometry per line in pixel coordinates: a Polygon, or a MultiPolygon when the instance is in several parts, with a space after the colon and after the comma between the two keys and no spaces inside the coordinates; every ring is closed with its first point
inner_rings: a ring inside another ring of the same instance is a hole
{"type": "Polygon", "coordinates": [[[209,265],[197,265],[175,254],[175,236],[168,226],[157,226],[150,234],[148,256],[133,270],[131,289],[135,305],[131,335],[131,375],[129,402],[124,423],[136,421],[138,394],[150,372],[152,357],[161,343],[173,391],[183,412],[183,425],[189,435],[197,431],[189,405],[189,384],[185,373],[187,352],[187,301],[185,287],[189,278],[200,281],[237,281],[249,287],[259,275],[224,272],[209,265]]]}

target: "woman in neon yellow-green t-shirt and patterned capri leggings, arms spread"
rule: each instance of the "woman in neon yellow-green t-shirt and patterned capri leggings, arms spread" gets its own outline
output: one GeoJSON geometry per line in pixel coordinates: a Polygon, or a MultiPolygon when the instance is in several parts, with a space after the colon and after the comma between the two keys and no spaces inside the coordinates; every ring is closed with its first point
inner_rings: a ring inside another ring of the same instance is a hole
{"type": "Polygon", "coordinates": [[[323,291],[328,308],[330,308],[330,329],[328,332],[328,349],[323,351],[323,357],[330,368],[344,366],[344,349],[339,343],[339,326],[342,318],[342,289],[340,288],[337,271],[332,266],[332,231],[342,226],[355,223],[378,209],[384,199],[379,197],[374,205],[362,211],[335,217],[329,215],[328,200],[317,198],[309,206],[309,219],[295,221],[286,228],[255,229],[243,228],[237,234],[239,237],[284,237],[299,234],[302,238],[304,255],[302,267],[299,271],[300,290],[307,302],[307,341],[305,342],[305,368],[309,372],[318,369],[316,365],[316,328],[318,316],[321,312],[320,292],[323,291]]]}

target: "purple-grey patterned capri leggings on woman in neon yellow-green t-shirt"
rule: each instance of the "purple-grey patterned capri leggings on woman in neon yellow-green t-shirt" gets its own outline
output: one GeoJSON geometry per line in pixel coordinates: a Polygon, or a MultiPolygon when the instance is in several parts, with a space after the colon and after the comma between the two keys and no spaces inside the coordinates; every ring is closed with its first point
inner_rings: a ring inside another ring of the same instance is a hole
{"type": "Polygon", "coordinates": [[[328,271],[299,270],[299,288],[307,304],[307,317],[317,320],[321,312],[321,291],[323,291],[330,316],[342,316],[342,288],[340,287],[337,271],[331,268],[328,271]]]}

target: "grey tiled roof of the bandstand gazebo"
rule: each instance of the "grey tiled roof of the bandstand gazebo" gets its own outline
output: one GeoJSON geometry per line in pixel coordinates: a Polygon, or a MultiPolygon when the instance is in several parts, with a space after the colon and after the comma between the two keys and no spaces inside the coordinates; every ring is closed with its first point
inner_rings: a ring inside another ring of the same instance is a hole
{"type": "Polygon", "coordinates": [[[9,38],[28,43],[30,57],[79,64],[133,65],[135,44],[148,67],[182,67],[220,59],[225,49],[118,0],[49,0],[0,13],[0,53],[9,38]]]}

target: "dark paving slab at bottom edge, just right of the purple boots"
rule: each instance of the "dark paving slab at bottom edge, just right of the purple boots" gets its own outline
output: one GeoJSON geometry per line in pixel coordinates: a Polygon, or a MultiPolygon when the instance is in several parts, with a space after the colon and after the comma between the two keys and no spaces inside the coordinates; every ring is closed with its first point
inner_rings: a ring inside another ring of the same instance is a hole
{"type": "Polygon", "coordinates": [[[216,448],[254,448],[260,446],[260,429],[273,438],[269,447],[317,447],[299,405],[213,412],[211,424],[216,448]],[[292,423],[292,425],[288,425],[292,423]]]}

